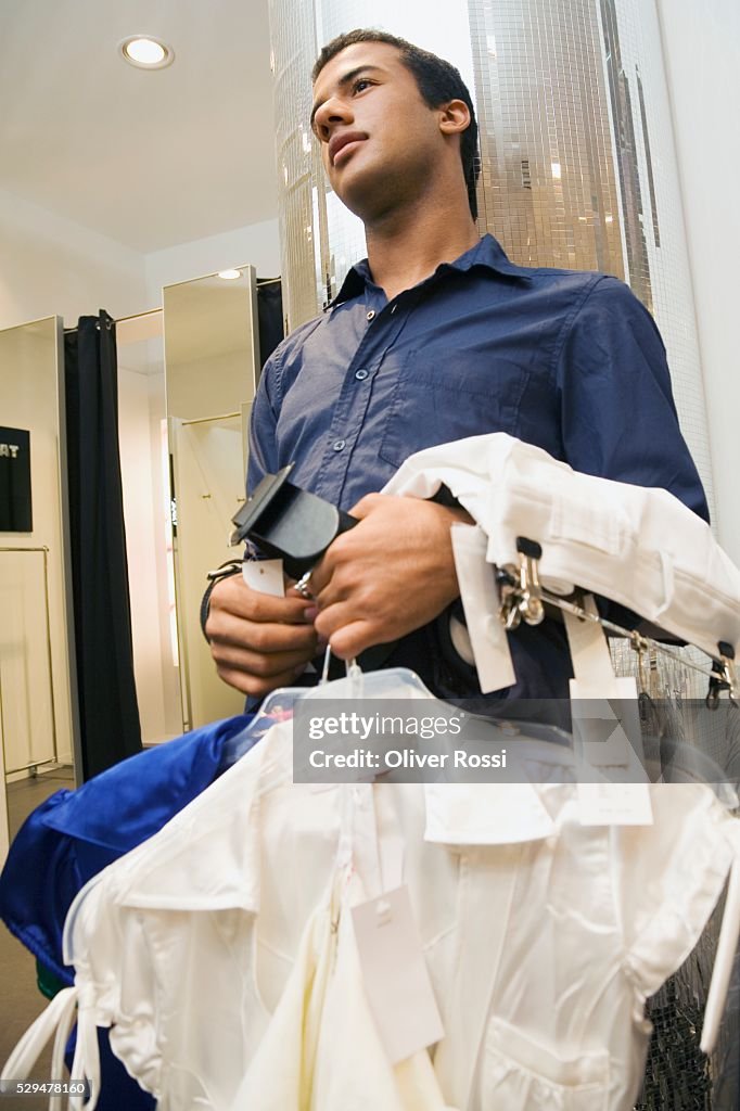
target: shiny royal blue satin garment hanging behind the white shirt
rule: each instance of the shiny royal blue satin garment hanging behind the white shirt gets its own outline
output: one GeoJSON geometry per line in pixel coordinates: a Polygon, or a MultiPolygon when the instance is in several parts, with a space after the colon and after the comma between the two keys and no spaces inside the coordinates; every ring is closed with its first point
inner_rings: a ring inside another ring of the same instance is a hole
{"type": "MultiPolygon", "coordinates": [[[[78,891],[204,791],[251,720],[248,714],[229,718],[146,749],[77,791],[57,791],[26,820],[0,874],[0,918],[63,983],[74,979],[74,970],[62,962],[62,931],[78,891]]],[[[244,738],[242,751],[263,732],[244,738]]],[[[98,1111],[152,1111],[153,1099],[111,1053],[107,1031],[99,1031],[99,1041],[98,1111]]]]}

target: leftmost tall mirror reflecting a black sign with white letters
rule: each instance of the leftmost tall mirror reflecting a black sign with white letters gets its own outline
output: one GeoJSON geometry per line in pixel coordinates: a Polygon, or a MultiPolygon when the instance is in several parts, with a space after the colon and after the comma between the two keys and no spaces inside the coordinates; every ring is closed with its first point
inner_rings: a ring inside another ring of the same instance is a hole
{"type": "Polygon", "coordinates": [[[0,862],[9,829],[74,785],[62,350],[58,317],[0,331],[0,862]]]}

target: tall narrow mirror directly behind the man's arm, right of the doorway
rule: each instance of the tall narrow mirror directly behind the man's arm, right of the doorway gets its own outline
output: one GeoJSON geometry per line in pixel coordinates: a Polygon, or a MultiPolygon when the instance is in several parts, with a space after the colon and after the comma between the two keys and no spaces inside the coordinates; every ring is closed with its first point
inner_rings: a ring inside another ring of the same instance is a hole
{"type": "Polygon", "coordinates": [[[240,713],[244,707],[243,694],[216,673],[200,628],[208,571],[240,554],[229,547],[229,534],[231,518],[244,500],[249,413],[260,366],[254,268],[222,274],[166,286],[162,300],[184,729],[240,713]]]}

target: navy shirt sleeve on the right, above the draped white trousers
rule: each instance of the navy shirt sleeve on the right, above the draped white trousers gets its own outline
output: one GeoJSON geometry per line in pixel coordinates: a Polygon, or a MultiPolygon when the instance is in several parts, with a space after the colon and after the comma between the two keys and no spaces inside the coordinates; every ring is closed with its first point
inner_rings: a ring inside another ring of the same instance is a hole
{"type": "Polygon", "coordinates": [[[679,428],[666,348],[630,289],[602,277],[567,322],[556,369],[566,460],[601,478],[660,487],[709,520],[679,428]]]}

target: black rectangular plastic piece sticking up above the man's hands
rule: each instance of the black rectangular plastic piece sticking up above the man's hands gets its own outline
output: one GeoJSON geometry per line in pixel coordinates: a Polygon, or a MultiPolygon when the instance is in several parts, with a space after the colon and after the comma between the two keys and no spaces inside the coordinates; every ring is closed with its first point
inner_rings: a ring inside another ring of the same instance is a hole
{"type": "Polygon", "coordinates": [[[231,543],[249,539],[266,556],[283,561],[288,574],[300,579],[319,562],[331,541],[358,523],[323,498],[288,481],[289,463],[277,474],[266,474],[232,521],[231,543]]]}

